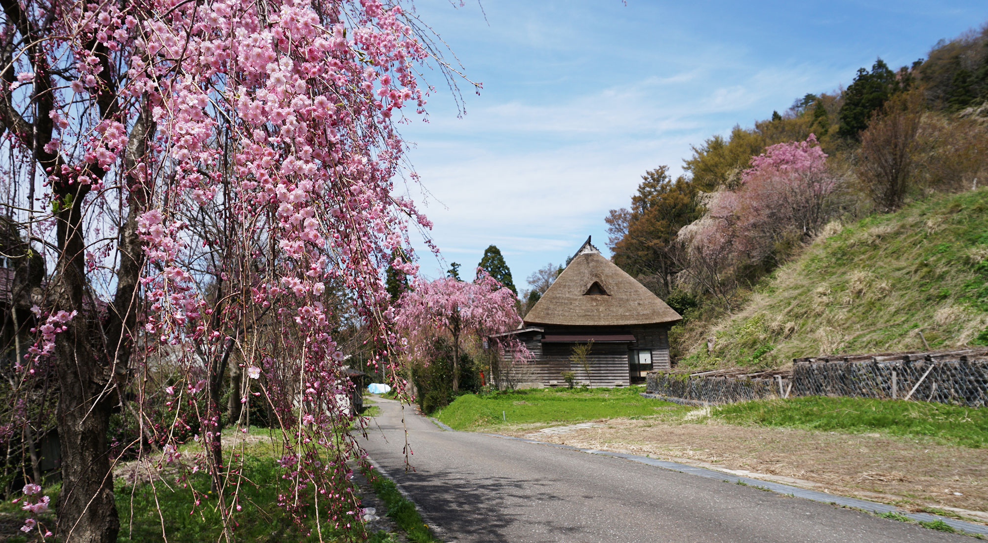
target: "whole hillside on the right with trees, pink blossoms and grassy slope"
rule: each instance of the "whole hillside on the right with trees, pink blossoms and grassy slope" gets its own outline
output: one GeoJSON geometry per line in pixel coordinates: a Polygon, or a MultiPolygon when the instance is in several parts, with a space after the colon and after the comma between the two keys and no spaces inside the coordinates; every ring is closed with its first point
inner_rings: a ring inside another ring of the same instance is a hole
{"type": "Polygon", "coordinates": [[[606,220],[614,262],[686,317],[684,364],[979,341],[988,305],[956,289],[984,288],[988,25],[712,136],[683,169],[646,172],[606,220]]]}

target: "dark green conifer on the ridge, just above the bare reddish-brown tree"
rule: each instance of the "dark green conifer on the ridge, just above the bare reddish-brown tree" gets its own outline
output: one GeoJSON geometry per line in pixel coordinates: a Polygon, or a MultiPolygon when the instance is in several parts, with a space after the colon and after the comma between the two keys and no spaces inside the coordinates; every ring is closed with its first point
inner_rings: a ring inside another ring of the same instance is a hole
{"type": "Polygon", "coordinates": [[[841,126],[837,135],[859,139],[871,115],[899,90],[899,81],[884,60],[876,60],[870,72],[859,68],[854,83],[844,92],[844,106],[839,115],[841,126]]]}

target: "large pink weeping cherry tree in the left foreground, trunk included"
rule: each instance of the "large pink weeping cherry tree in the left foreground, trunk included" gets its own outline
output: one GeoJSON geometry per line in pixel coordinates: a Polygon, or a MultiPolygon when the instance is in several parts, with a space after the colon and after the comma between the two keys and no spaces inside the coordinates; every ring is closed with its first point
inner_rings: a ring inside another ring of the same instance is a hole
{"type": "MultiPolygon", "coordinates": [[[[354,521],[330,492],[351,421],[326,291],[352,297],[377,358],[397,348],[382,271],[414,274],[410,256],[391,256],[408,255],[409,222],[430,223],[393,185],[405,148],[394,121],[422,112],[424,62],[450,71],[417,18],[398,0],[0,6],[3,213],[52,270],[13,392],[30,399],[41,376],[57,391],[57,537],[117,540],[107,434],[128,398],[140,410],[174,396],[171,409],[195,413],[191,431],[218,443],[217,375],[231,356],[255,383],[244,405],[281,409],[296,488],[285,506],[354,521]],[[221,227],[199,228],[204,212],[221,227]],[[206,266],[206,253],[221,258],[206,266]],[[152,359],[177,360],[177,382],[155,383],[152,359]],[[320,447],[340,457],[320,463],[320,447]]],[[[177,429],[136,418],[150,437],[125,446],[156,441],[173,459],[177,429]]],[[[212,457],[208,469],[236,477],[212,457]]],[[[232,526],[236,496],[215,506],[232,526]]]]}

